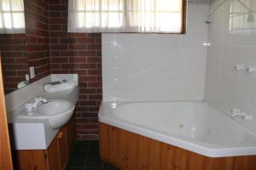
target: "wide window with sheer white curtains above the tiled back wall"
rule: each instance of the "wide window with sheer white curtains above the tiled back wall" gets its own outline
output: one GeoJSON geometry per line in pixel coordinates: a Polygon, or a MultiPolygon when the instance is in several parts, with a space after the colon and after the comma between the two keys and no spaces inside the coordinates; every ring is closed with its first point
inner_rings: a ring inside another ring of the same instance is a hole
{"type": "Polygon", "coordinates": [[[183,33],[185,0],[69,0],[70,32],[183,33]]]}

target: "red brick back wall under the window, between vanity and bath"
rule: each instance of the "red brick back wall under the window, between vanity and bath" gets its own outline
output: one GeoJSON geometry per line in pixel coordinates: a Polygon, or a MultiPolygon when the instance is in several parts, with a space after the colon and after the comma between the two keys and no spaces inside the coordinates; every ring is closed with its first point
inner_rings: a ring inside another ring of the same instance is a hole
{"type": "Polygon", "coordinates": [[[67,0],[49,1],[49,50],[52,73],[79,74],[77,139],[98,139],[97,112],[102,100],[101,34],[67,32],[67,0]]]}

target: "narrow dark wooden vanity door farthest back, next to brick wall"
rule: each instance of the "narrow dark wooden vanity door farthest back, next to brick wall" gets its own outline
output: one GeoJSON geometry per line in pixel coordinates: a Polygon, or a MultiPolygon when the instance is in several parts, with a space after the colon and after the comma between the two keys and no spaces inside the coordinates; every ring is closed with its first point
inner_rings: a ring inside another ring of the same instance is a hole
{"type": "Polygon", "coordinates": [[[76,142],[76,118],[73,113],[72,118],[67,122],[67,154],[70,156],[72,153],[74,144],[76,142]]]}

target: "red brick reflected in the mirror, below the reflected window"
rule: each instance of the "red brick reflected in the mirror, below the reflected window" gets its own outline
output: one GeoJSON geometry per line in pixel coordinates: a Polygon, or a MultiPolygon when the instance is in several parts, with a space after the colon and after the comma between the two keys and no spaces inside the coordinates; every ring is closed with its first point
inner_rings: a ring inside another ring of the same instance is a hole
{"type": "Polygon", "coordinates": [[[26,34],[0,34],[0,51],[3,65],[4,93],[17,89],[25,80],[27,71],[26,34]]]}

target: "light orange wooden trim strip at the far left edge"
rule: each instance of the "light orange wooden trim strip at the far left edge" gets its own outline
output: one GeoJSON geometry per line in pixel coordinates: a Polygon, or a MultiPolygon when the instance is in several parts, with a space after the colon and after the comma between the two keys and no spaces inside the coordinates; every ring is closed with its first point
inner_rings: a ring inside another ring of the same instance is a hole
{"type": "Polygon", "coordinates": [[[0,169],[13,169],[9,143],[8,122],[3,92],[2,64],[0,56],[0,169]]]}

